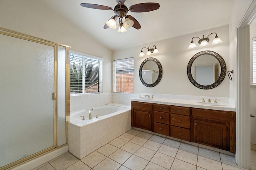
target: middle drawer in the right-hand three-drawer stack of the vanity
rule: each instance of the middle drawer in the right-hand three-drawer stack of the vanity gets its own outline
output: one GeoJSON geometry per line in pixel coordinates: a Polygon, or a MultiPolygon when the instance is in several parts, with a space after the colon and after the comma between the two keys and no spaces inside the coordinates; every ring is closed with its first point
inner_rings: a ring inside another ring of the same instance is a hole
{"type": "Polygon", "coordinates": [[[190,117],[184,115],[171,115],[171,125],[177,127],[190,128],[190,117]]]}

